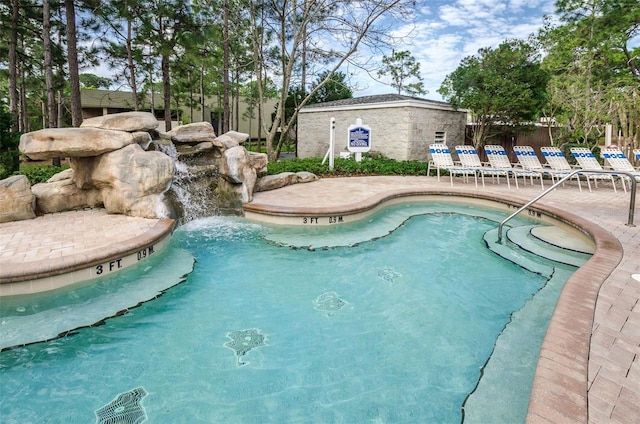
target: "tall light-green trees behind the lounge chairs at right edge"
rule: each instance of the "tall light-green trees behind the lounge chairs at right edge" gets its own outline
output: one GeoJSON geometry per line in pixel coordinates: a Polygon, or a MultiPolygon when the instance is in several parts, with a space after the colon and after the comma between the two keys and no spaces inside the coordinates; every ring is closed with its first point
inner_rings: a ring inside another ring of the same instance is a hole
{"type": "Polygon", "coordinates": [[[547,22],[539,35],[542,63],[550,75],[549,108],[562,141],[592,146],[604,124],[628,150],[640,144],[640,3],[636,0],[561,0],[559,25],[547,22]]]}

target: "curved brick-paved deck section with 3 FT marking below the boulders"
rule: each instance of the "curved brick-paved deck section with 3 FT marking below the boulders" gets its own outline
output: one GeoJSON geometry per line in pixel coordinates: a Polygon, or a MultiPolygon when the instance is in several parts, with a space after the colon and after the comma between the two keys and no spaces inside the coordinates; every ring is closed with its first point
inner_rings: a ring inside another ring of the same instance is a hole
{"type": "Polygon", "coordinates": [[[0,296],[55,290],[120,271],[160,251],[175,221],[104,209],[0,224],[0,296]]]}

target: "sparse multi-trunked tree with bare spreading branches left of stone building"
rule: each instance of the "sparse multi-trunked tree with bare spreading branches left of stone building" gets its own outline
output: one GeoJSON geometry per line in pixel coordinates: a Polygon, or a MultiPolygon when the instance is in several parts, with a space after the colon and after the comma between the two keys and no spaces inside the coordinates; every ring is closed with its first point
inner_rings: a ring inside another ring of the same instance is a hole
{"type": "MultiPolygon", "coordinates": [[[[261,90],[262,81],[269,73],[277,76],[280,87],[280,100],[273,122],[265,128],[270,160],[278,157],[300,109],[342,65],[357,62],[358,49],[391,45],[390,28],[394,18],[409,11],[411,4],[411,0],[249,2],[258,89],[261,90]],[[321,58],[324,65],[330,66],[325,66],[328,69],[325,79],[306,92],[293,114],[287,117],[285,109],[289,89],[300,87],[301,83],[296,78],[301,69],[303,50],[306,65],[310,65],[313,58],[321,58]]],[[[263,101],[261,92],[260,103],[263,101]]],[[[268,122],[266,119],[262,121],[268,122]]]]}

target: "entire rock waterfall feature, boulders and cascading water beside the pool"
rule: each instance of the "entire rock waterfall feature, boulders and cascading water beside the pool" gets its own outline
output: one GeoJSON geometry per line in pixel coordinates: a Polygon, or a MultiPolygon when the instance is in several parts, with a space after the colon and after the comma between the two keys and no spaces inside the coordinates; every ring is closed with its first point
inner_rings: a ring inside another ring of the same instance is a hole
{"type": "Polygon", "coordinates": [[[14,200],[2,202],[0,217],[12,221],[93,207],[179,221],[241,214],[267,166],[266,155],[242,146],[248,134],[216,136],[207,122],[167,133],[158,133],[157,126],[150,113],[124,112],[86,119],[80,128],[23,134],[20,151],[27,157],[69,158],[71,169],[33,187],[26,178],[4,180],[2,191],[14,200]]]}

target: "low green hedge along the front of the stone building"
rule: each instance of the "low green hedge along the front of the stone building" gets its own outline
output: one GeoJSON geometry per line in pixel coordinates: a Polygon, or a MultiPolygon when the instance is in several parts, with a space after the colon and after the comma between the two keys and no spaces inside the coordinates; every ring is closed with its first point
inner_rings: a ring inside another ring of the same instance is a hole
{"type": "Polygon", "coordinates": [[[336,158],[334,169],[329,169],[329,161],[324,165],[322,158],[284,159],[269,162],[266,175],[281,172],[307,171],[319,177],[348,177],[355,175],[426,175],[427,162],[396,161],[386,158],[363,157],[361,162],[354,159],[336,158]]]}

